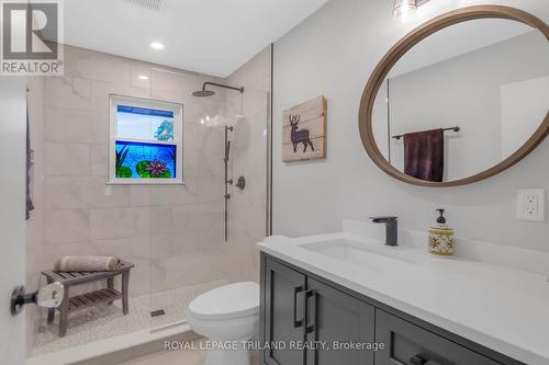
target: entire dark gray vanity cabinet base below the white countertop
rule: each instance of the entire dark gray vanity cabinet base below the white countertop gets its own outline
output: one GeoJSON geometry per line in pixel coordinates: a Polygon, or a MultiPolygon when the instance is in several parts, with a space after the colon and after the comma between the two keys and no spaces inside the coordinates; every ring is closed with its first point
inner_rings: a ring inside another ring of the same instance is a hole
{"type": "Polygon", "coordinates": [[[525,365],[266,253],[260,343],[261,365],[525,365]]]}

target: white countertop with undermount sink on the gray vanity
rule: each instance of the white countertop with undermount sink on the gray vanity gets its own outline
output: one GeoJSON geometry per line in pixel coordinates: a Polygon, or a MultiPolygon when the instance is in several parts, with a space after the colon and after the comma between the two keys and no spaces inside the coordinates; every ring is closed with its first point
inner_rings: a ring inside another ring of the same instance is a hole
{"type": "Polygon", "coordinates": [[[426,249],[389,248],[345,232],[272,237],[259,248],[512,358],[549,364],[549,283],[541,274],[461,258],[438,259],[426,249]],[[366,253],[349,263],[306,249],[310,243],[337,240],[363,244],[394,260],[366,253]]]}

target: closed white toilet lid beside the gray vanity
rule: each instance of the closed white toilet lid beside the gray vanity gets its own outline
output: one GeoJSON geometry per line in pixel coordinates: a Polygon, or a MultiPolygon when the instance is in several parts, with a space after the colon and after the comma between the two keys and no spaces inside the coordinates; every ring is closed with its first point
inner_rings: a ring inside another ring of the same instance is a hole
{"type": "Polygon", "coordinates": [[[219,287],[197,297],[189,313],[199,319],[231,319],[259,312],[259,285],[237,283],[219,287]]]}

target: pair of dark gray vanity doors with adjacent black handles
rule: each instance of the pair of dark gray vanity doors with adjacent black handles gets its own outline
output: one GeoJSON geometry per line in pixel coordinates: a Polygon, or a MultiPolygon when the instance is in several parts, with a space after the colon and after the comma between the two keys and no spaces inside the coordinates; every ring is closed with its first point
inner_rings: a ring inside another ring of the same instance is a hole
{"type": "Polygon", "coordinates": [[[267,365],[373,365],[369,351],[335,350],[335,343],[372,343],[376,309],[273,260],[264,269],[261,343],[267,365]],[[277,349],[279,342],[284,349],[277,349]]]}

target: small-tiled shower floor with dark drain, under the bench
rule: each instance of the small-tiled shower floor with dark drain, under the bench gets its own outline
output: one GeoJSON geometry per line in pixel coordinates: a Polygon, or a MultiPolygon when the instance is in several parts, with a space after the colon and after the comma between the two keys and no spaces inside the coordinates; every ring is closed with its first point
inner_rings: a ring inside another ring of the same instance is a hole
{"type": "Polygon", "coordinates": [[[144,329],[180,322],[184,320],[184,311],[193,298],[224,284],[227,283],[225,281],[212,282],[133,297],[130,299],[130,313],[127,316],[122,313],[120,300],[112,306],[99,306],[76,312],[69,317],[67,335],[64,338],[57,335],[59,316],[56,313],[56,320],[53,324],[48,326],[44,322],[36,337],[31,357],[144,329]],[[157,309],[164,309],[166,315],[152,318],[150,311],[157,309]]]}

